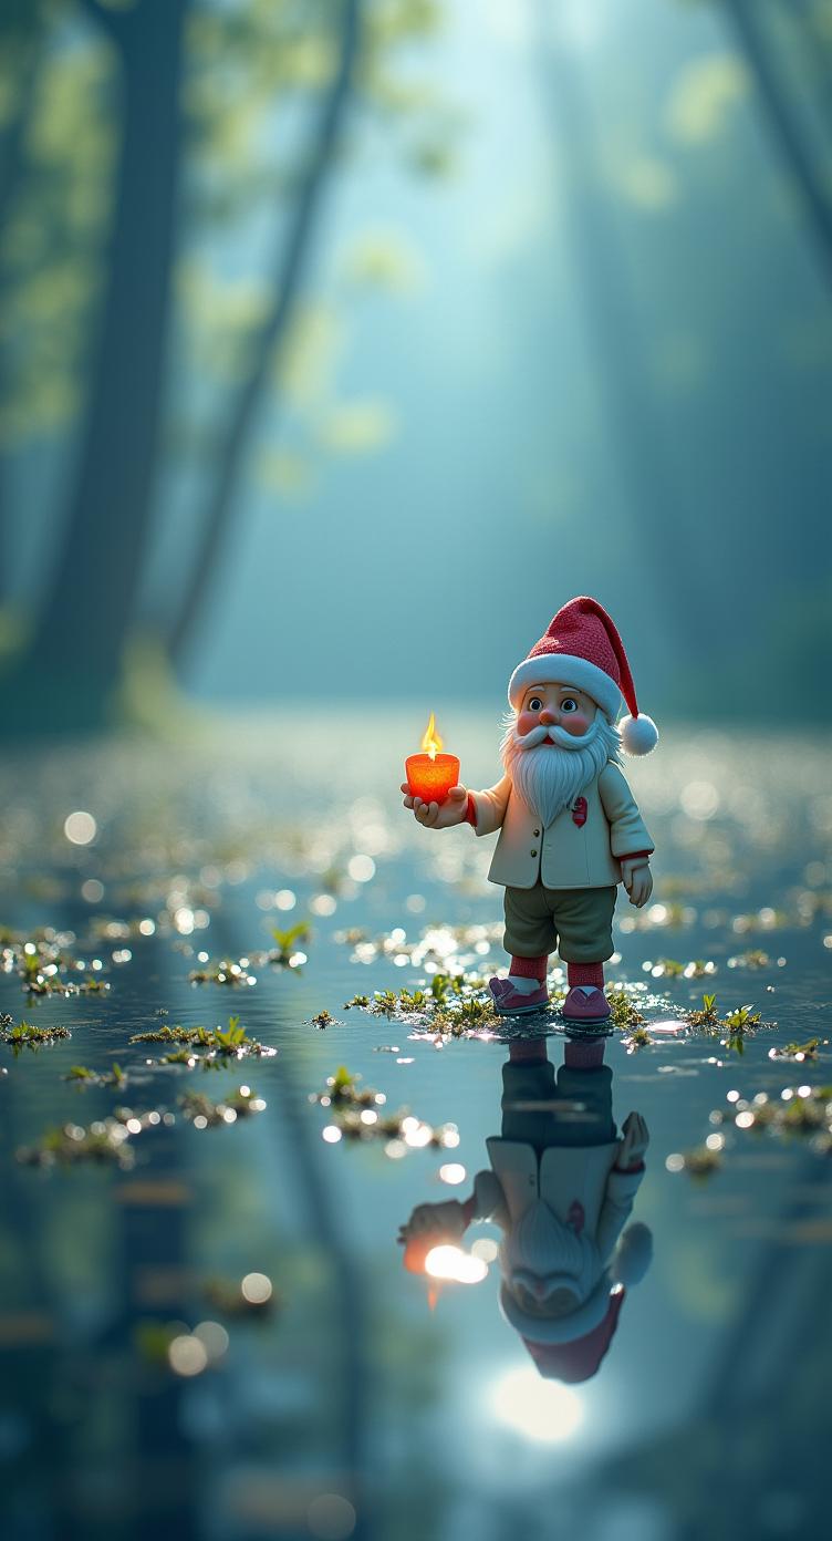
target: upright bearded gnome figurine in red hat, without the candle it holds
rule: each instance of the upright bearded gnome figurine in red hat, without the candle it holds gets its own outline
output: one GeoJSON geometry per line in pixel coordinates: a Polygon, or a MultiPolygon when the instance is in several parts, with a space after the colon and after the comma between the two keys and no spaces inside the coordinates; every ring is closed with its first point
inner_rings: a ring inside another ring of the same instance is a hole
{"type": "Polygon", "coordinates": [[[646,755],[655,723],[638,710],[624,644],[596,599],[564,604],[508,681],[501,743],[504,777],[484,792],[453,787],[444,803],[410,795],[421,824],[499,829],[491,883],[505,888],[508,979],[491,979],[501,1016],[545,1009],[549,954],[567,965],[564,1017],[602,1022],[604,962],[613,954],[618,885],[641,908],[650,898],[653,841],[619,769],[646,755]],[[616,726],[621,706],[629,715],[616,726]]]}

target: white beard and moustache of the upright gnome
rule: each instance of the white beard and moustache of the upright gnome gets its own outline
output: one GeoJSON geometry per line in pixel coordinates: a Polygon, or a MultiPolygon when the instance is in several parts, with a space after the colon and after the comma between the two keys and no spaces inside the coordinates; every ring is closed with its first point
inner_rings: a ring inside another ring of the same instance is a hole
{"type": "Polygon", "coordinates": [[[582,738],[575,738],[562,727],[533,727],[522,738],[512,717],[499,746],[502,764],[512,778],[512,786],[544,829],[555,823],[564,807],[590,781],[595,781],[607,761],[618,764],[621,740],[601,709],[595,723],[582,738]]]}

